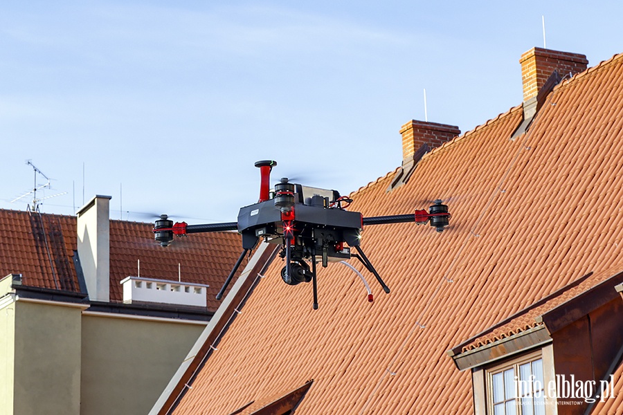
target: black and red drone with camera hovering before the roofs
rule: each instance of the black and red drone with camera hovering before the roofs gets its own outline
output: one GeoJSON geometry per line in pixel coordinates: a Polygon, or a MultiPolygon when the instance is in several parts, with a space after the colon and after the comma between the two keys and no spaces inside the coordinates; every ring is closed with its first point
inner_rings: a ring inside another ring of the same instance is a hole
{"type": "MultiPolygon", "coordinates": [[[[390,293],[390,288],[383,282],[361,249],[363,227],[406,222],[421,225],[430,222],[437,232],[443,232],[449,225],[451,215],[448,206],[440,199],[433,202],[429,212],[415,210],[413,214],[363,217],[360,212],[346,210],[352,199],[341,196],[336,190],[307,187],[291,183],[288,178],[282,178],[271,190],[270,174],[276,165],[277,162],[274,160],[261,160],[255,163],[255,167],[260,168],[260,200],[258,203],[240,208],[236,222],[188,225],[186,222],[173,223],[166,214],[163,214],[154,225],[155,239],[163,247],[169,246],[174,236],[184,237],[191,233],[237,230],[242,234],[242,254],[216,299],[222,299],[244,257],[261,239],[281,246],[279,255],[285,261],[285,266],[281,270],[283,282],[291,286],[302,282],[312,283],[314,310],[318,309],[316,280],[318,263],[326,268],[329,263],[354,257],[374,275],[383,291],[390,293]],[[353,252],[352,248],[356,252],[353,252]]],[[[352,266],[350,268],[355,270],[352,266]]],[[[368,283],[358,271],[355,272],[363,280],[368,289],[368,301],[372,302],[373,297],[368,283]]]]}

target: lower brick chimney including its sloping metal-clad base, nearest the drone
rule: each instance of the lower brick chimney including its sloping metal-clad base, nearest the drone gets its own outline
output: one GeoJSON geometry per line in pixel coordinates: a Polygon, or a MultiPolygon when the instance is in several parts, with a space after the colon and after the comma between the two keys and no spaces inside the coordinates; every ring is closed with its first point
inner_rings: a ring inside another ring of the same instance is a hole
{"type": "Polygon", "coordinates": [[[417,162],[424,154],[460,135],[461,130],[455,125],[410,120],[401,127],[400,133],[402,135],[402,165],[390,183],[388,192],[407,183],[417,162]]]}

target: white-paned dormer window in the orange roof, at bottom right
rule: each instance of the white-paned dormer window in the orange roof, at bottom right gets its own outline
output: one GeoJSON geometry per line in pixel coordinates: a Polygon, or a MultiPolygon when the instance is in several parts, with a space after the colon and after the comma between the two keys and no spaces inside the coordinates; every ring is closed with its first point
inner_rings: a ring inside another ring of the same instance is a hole
{"type": "Polygon", "coordinates": [[[487,369],[487,414],[545,415],[541,353],[487,369]]]}

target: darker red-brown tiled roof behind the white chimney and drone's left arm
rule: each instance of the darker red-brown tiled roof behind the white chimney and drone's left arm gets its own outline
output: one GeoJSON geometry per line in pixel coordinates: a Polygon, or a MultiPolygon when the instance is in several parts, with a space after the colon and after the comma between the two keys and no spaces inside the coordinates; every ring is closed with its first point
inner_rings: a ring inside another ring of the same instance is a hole
{"type": "MultiPolygon", "coordinates": [[[[215,295],[240,255],[235,232],[192,234],[176,238],[167,248],[154,241],[151,223],[110,222],[110,299],[122,302],[120,282],[138,273],[156,279],[178,278],[209,284],[208,309],[215,311],[215,295]]],[[[75,216],[0,210],[0,273],[21,273],[23,284],[80,292],[73,264],[76,246],[75,216]],[[53,264],[53,265],[52,265],[53,264]]],[[[244,264],[243,264],[244,266],[244,264]]]]}

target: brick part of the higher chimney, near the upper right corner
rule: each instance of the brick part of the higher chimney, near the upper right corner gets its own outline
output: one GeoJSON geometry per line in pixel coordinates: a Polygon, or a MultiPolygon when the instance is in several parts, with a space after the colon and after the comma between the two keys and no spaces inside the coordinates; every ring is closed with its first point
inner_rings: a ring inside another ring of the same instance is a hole
{"type": "Polygon", "coordinates": [[[586,55],[543,48],[528,50],[521,55],[519,63],[521,63],[524,102],[536,97],[554,70],[560,77],[565,77],[569,73],[575,75],[586,71],[588,67],[586,55]]]}

